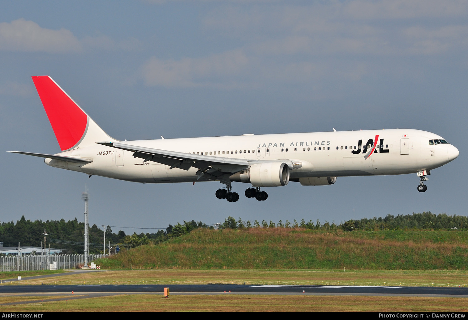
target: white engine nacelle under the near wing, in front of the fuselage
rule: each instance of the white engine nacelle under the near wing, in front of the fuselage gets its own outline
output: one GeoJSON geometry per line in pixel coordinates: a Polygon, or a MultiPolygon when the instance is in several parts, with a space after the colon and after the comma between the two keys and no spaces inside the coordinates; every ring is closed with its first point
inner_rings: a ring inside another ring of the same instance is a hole
{"type": "Polygon", "coordinates": [[[229,178],[231,181],[251,183],[254,187],[280,187],[289,182],[289,166],[284,162],[259,163],[229,178]]]}

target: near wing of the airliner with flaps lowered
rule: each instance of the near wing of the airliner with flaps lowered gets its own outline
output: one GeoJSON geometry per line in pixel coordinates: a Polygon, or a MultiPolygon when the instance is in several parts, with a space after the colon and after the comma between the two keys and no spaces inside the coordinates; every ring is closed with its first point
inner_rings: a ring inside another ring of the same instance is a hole
{"type": "MultiPolygon", "coordinates": [[[[229,181],[229,175],[245,170],[251,165],[267,161],[234,159],[200,155],[193,153],[175,152],[161,149],[153,149],[138,145],[127,145],[119,142],[96,142],[113,148],[132,151],[134,157],[146,161],[154,161],[172,168],[189,170],[191,167],[198,169],[198,179],[204,177],[211,180],[229,181]]],[[[223,182],[224,183],[224,182],[223,182]]],[[[229,183],[230,184],[230,183],[229,183]]]]}

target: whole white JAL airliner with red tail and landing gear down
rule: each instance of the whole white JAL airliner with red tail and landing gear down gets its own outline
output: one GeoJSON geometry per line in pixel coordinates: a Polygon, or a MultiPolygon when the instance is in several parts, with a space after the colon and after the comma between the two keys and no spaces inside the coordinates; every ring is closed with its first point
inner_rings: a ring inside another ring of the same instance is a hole
{"type": "Polygon", "coordinates": [[[299,182],[329,185],[337,176],[416,173],[419,192],[431,170],[454,160],[456,147],[437,134],[413,130],[330,131],[232,137],[119,141],[108,136],[49,76],[32,77],[62,152],[10,151],[89,176],[142,182],[219,181],[216,197],[266,200],[263,187],[299,182]]]}

